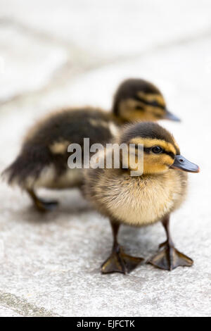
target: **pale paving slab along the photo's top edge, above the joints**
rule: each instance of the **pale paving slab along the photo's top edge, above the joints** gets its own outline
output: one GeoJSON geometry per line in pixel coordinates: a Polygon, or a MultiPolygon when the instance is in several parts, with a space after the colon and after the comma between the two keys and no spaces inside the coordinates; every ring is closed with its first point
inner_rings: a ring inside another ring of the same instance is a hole
{"type": "Polygon", "coordinates": [[[1,17],[114,58],[202,33],[210,28],[210,1],[3,0],[1,17]]]}

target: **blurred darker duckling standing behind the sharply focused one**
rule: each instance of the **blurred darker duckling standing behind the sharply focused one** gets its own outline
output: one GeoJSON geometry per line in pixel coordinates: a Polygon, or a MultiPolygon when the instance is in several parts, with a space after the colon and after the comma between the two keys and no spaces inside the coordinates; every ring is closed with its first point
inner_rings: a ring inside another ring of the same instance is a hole
{"type": "Polygon", "coordinates": [[[4,171],[9,185],[19,185],[39,211],[51,211],[58,201],[46,201],[35,193],[39,187],[65,189],[80,187],[81,169],[68,168],[68,146],[83,148],[84,137],[90,144],[104,144],[116,134],[120,125],[133,120],[179,120],[167,111],[157,87],[141,79],[124,81],[113,101],[113,110],[67,108],[51,113],[34,125],[26,135],[20,154],[4,171]]]}

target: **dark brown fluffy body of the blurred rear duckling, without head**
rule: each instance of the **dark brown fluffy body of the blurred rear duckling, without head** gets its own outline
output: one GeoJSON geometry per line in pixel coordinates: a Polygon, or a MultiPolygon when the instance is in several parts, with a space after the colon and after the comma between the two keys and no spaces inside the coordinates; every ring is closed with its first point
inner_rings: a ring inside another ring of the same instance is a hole
{"type": "Polygon", "coordinates": [[[51,114],[28,132],[20,155],[4,170],[3,177],[9,185],[27,188],[33,187],[35,182],[37,186],[51,187],[67,172],[66,177],[71,181],[68,146],[77,143],[83,147],[86,137],[90,139],[90,145],[111,139],[106,113],[82,108],[51,114]]]}

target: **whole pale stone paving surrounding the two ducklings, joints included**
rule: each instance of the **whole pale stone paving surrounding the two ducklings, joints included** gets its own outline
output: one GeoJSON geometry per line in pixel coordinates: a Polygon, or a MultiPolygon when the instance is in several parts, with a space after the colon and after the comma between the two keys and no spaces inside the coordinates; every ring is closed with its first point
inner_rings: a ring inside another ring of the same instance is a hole
{"type": "MultiPolygon", "coordinates": [[[[195,265],[172,273],[142,266],[101,276],[108,220],[79,192],[39,216],[25,194],[0,185],[0,316],[210,316],[210,0],[0,0],[0,171],[35,120],[63,106],[109,109],[127,77],[154,82],[182,123],[162,121],[198,163],[172,221],[195,265]]],[[[120,241],[148,258],[158,224],[124,227],[120,241]]]]}

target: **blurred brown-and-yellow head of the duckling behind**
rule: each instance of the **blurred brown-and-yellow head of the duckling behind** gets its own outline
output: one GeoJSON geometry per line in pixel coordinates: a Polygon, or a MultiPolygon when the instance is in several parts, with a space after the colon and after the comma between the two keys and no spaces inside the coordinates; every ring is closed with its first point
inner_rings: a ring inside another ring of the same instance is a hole
{"type": "Polygon", "coordinates": [[[176,120],[167,111],[165,99],[155,85],[146,80],[129,79],[122,82],[113,101],[113,112],[126,122],[134,120],[176,120]]]}

